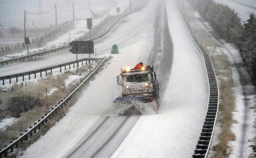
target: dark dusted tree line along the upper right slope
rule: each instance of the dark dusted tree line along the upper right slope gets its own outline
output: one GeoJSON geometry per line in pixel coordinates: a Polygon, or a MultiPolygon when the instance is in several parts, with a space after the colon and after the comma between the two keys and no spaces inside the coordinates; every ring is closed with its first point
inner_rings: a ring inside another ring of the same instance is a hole
{"type": "Polygon", "coordinates": [[[213,0],[190,0],[201,17],[210,23],[214,31],[240,51],[252,82],[256,85],[256,17],[250,13],[247,21],[241,21],[234,9],[213,0]]]}

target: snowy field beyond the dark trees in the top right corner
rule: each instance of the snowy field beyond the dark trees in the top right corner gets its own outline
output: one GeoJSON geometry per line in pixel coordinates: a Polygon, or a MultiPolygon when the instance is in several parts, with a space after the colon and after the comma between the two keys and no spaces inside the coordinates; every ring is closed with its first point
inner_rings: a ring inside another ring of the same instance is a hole
{"type": "MultiPolygon", "coordinates": [[[[214,0],[215,2],[219,2],[224,5],[228,5],[231,9],[234,9],[238,16],[241,18],[242,21],[246,21],[249,19],[249,14],[252,12],[256,12],[256,9],[246,7],[244,5],[241,5],[239,3],[233,2],[231,0],[214,0]]],[[[235,0],[237,2],[244,3],[246,5],[250,5],[252,7],[256,7],[256,1],[255,0],[235,0]]]]}

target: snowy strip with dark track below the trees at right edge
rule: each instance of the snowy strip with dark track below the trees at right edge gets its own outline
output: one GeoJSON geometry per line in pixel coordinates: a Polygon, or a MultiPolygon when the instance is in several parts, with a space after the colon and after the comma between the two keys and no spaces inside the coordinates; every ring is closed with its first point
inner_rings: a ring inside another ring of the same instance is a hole
{"type": "MultiPolygon", "coordinates": [[[[232,64],[242,63],[239,51],[232,44],[224,44],[222,50],[228,56],[232,64]]],[[[233,73],[232,78],[237,84],[237,86],[234,87],[237,98],[236,111],[233,112],[233,118],[238,121],[238,123],[233,124],[232,128],[232,131],[236,135],[236,140],[231,141],[233,153],[230,155],[230,158],[246,158],[251,154],[249,145],[253,144],[253,142],[250,142],[250,140],[252,140],[255,135],[253,126],[256,115],[254,114],[254,109],[251,109],[251,107],[254,106],[255,87],[241,83],[241,78],[244,76],[241,76],[241,72],[239,72],[241,70],[238,70],[238,67],[232,67],[231,70],[233,73]]]]}

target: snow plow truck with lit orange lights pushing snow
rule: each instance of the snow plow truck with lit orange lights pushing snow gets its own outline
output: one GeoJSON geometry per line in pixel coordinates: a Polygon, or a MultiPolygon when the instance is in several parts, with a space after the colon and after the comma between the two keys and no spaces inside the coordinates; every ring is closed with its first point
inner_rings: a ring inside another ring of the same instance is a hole
{"type": "Polygon", "coordinates": [[[141,62],[133,69],[121,68],[117,82],[122,86],[122,96],[114,103],[115,108],[122,109],[120,115],[157,113],[159,83],[153,66],[143,66],[141,62]]]}

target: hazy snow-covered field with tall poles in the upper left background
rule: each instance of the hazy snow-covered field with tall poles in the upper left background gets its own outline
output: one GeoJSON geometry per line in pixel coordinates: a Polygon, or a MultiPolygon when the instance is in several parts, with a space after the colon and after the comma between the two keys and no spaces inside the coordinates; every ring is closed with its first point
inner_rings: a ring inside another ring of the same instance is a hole
{"type": "MultiPolygon", "coordinates": [[[[124,2],[127,0],[118,0],[124,2]]],[[[108,7],[114,7],[117,5],[117,0],[91,0],[90,8],[97,14],[104,11],[108,7]]],[[[73,8],[72,3],[74,2],[74,15],[76,19],[87,18],[89,13],[88,0],[44,0],[41,1],[41,11],[44,14],[38,14],[39,2],[28,1],[28,0],[8,0],[1,2],[0,5],[0,23],[4,28],[9,26],[16,26],[23,29],[24,23],[24,10],[28,12],[26,14],[28,27],[49,27],[49,25],[55,25],[55,5],[57,6],[57,23],[60,24],[65,21],[73,19],[73,8]],[[35,13],[35,14],[29,14],[35,13]],[[32,23],[34,22],[34,26],[32,23]],[[6,25],[6,26],[5,26],[6,25]]]]}

